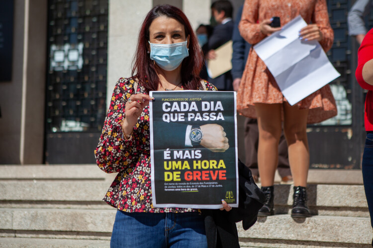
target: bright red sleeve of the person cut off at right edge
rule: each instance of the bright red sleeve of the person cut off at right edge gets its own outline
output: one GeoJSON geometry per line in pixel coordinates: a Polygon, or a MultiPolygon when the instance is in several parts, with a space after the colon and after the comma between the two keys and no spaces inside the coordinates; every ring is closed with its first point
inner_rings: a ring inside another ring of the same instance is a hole
{"type": "Polygon", "coordinates": [[[368,84],[363,79],[364,64],[373,59],[373,29],[371,29],[362,42],[358,51],[358,67],[356,68],[356,79],[363,89],[373,90],[373,85],[368,84]]]}

